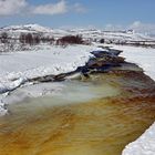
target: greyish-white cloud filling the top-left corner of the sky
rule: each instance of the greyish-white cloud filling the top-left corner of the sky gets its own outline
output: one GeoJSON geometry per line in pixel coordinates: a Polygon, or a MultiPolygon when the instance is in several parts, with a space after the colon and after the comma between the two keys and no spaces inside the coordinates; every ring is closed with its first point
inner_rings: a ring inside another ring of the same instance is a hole
{"type": "Polygon", "coordinates": [[[25,0],[0,0],[0,16],[17,14],[27,4],[25,0]]]}

